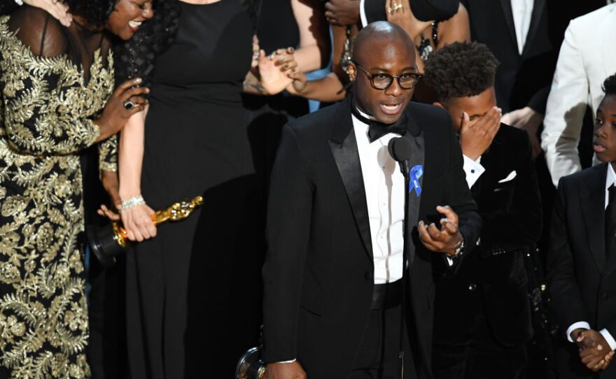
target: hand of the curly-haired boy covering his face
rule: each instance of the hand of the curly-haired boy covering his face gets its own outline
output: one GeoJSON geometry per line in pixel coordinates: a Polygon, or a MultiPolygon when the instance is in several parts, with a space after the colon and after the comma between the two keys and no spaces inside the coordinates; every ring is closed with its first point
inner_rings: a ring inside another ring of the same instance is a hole
{"type": "Polygon", "coordinates": [[[477,121],[470,121],[468,113],[462,113],[460,146],[463,155],[475,161],[488,150],[500,127],[501,112],[495,106],[477,121]]]}

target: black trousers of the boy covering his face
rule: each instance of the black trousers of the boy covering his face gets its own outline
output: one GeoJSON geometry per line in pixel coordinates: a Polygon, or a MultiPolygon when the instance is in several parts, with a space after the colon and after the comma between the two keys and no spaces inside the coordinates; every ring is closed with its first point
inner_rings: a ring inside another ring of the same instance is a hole
{"type": "Polygon", "coordinates": [[[433,345],[434,379],[522,379],[526,371],[526,345],[500,345],[483,313],[470,328],[468,341],[433,345]]]}

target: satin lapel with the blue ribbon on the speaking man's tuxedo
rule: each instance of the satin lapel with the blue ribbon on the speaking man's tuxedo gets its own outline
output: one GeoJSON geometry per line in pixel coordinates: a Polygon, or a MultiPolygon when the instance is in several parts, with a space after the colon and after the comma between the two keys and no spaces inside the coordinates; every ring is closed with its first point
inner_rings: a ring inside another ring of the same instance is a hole
{"type": "MultiPolygon", "coordinates": [[[[402,136],[402,138],[406,138],[411,142],[412,145],[412,155],[411,155],[411,167],[421,165],[423,166],[424,161],[424,144],[423,144],[423,131],[419,128],[419,125],[415,122],[412,112],[407,110],[407,130],[409,131],[407,134],[402,136]]],[[[425,170],[425,167],[424,167],[425,170]]],[[[423,176],[419,178],[419,186],[423,188],[423,176]]],[[[408,189],[407,189],[408,190],[408,189]]],[[[422,192],[423,193],[423,192],[422,192]]],[[[413,260],[415,258],[415,245],[412,243],[415,229],[417,228],[417,222],[419,222],[419,205],[421,204],[421,196],[417,196],[414,189],[409,193],[409,203],[408,203],[408,222],[407,222],[407,230],[409,241],[407,245],[409,246],[408,251],[408,260],[409,267],[412,266],[413,260]]]]}

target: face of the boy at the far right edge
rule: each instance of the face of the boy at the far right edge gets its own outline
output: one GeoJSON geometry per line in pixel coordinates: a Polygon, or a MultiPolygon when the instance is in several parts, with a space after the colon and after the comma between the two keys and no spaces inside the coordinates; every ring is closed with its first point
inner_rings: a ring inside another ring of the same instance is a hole
{"type": "Polygon", "coordinates": [[[616,96],[614,95],[605,96],[599,104],[594,120],[592,143],[594,152],[601,162],[616,162],[616,96]]]}

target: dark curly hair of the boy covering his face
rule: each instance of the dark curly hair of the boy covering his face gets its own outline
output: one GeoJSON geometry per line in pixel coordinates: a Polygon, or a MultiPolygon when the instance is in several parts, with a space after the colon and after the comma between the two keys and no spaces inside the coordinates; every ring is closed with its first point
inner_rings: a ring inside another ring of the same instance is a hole
{"type": "Polygon", "coordinates": [[[426,82],[438,101],[478,95],[494,85],[499,62],[478,42],[455,42],[436,50],[426,61],[426,82]]]}

